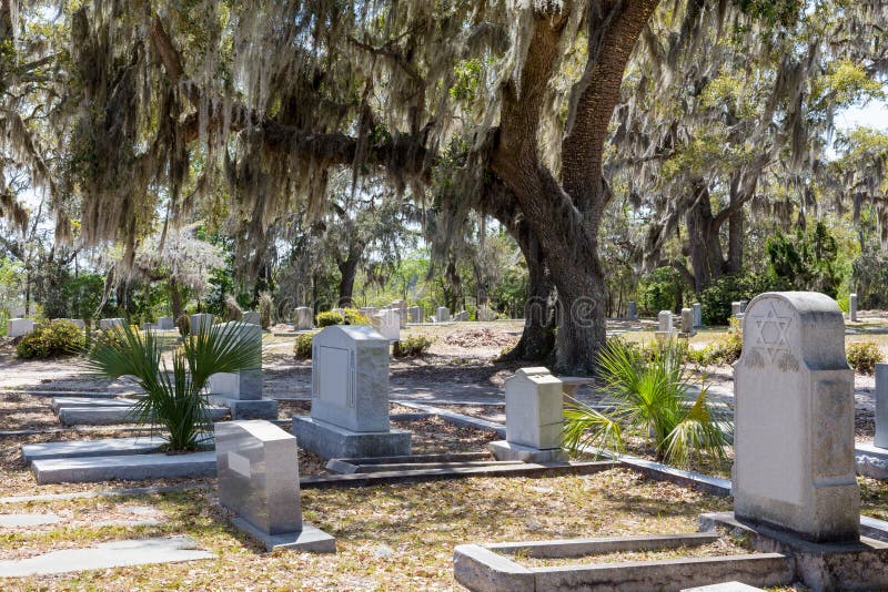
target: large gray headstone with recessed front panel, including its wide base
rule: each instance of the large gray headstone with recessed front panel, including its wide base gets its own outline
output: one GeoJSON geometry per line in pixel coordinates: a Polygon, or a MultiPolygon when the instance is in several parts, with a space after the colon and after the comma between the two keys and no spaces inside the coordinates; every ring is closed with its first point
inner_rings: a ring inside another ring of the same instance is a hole
{"type": "Polygon", "coordinates": [[[315,335],[311,417],[293,416],[292,429],[322,458],[410,455],[410,432],[389,422],[389,339],[365,325],[315,335]]]}

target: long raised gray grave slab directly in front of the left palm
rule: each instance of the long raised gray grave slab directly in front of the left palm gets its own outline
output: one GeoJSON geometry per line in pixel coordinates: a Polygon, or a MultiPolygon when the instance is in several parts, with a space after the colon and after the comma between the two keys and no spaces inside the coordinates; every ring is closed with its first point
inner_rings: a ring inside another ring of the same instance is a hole
{"type": "Polygon", "coordinates": [[[34,460],[31,462],[31,470],[39,484],[214,477],[215,452],[56,458],[34,460]]]}

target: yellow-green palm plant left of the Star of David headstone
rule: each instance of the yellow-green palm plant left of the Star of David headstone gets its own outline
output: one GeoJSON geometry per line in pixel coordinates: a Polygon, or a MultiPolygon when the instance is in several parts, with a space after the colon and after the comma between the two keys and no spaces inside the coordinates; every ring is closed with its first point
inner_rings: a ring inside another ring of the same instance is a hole
{"type": "Polygon", "coordinates": [[[639,436],[657,458],[687,467],[699,455],[725,459],[730,423],[715,409],[707,388],[688,397],[684,349],[672,341],[647,351],[614,340],[598,356],[605,390],[613,409],[601,412],[571,398],[565,409],[564,443],[573,452],[587,446],[625,451],[625,435],[639,436]]]}

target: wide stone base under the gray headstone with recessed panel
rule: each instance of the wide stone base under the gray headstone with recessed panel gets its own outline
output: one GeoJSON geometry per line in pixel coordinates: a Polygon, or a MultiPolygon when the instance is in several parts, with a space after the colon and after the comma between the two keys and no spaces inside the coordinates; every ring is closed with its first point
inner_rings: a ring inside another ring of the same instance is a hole
{"type": "Polygon", "coordinates": [[[411,453],[411,432],[407,430],[352,431],[306,416],[293,416],[291,430],[300,448],[324,460],[411,453]]]}

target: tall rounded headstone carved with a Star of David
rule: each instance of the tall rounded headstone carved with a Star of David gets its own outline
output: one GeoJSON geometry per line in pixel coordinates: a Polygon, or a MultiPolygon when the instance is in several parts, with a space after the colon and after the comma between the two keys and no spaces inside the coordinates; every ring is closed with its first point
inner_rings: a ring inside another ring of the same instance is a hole
{"type": "Polygon", "coordinates": [[[859,538],[854,371],[836,302],[766,293],[746,309],[735,365],[734,512],[817,541],[859,538]]]}

